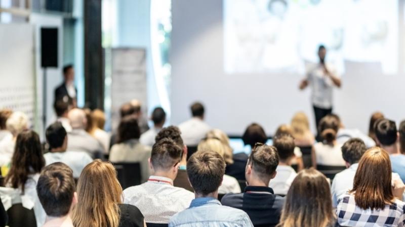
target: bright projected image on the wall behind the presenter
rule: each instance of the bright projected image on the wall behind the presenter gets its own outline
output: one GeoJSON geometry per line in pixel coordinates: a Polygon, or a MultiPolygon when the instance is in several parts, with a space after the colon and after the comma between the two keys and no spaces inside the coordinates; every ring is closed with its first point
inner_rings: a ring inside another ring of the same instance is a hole
{"type": "Polygon", "coordinates": [[[303,74],[317,61],[398,68],[398,0],[224,0],[226,73],[303,74]]]}

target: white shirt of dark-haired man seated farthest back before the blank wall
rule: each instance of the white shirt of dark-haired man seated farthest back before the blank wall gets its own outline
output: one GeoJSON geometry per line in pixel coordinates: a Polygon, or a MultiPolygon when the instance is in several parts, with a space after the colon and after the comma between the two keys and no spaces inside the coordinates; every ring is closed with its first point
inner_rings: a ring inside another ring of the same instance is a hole
{"type": "Polygon", "coordinates": [[[206,137],[206,134],[211,130],[203,120],[199,118],[192,118],[179,125],[181,138],[187,146],[196,146],[201,139],[206,137]]]}

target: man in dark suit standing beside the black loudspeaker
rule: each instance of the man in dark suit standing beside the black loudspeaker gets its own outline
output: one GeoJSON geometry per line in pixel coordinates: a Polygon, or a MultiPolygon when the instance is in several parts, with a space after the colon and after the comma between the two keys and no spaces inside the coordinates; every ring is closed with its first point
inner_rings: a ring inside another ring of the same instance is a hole
{"type": "Polygon", "coordinates": [[[55,100],[72,101],[76,106],[77,89],[74,87],[74,69],[72,65],[63,67],[63,83],[55,89],[55,100]]]}

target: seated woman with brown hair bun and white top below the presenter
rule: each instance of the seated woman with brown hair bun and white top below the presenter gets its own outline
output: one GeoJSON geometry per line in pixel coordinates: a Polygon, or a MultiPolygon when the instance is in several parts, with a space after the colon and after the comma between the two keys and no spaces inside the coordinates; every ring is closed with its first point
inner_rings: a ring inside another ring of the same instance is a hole
{"type": "Polygon", "coordinates": [[[312,149],[312,165],[331,165],[344,166],[345,161],[342,158],[341,145],[336,141],[336,135],[339,130],[338,120],[327,115],[319,122],[320,137],[322,142],[318,142],[312,149]]]}

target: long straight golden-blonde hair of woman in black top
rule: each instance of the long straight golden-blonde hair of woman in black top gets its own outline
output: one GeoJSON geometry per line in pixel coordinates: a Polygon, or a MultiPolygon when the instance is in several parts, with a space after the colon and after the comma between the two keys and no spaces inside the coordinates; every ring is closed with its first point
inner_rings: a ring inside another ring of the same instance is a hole
{"type": "Polygon", "coordinates": [[[78,202],[73,210],[76,227],[118,227],[123,189],[110,162],[96,159],[86,165],[77,182],[78,202]]]}

